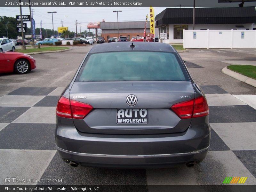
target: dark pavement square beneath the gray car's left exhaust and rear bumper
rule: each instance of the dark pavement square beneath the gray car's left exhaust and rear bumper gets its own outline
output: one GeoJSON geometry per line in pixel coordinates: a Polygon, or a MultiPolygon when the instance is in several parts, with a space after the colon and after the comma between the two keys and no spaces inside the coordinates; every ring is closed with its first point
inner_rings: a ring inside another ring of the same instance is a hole
{"type": "Polygon", "coordinates": [[[41,182],[37,185],[147,185],[145,169],[71,167],[59,157],[58,152],[41,177],[49,178],[62,179],[62,183],[41,182]]]}

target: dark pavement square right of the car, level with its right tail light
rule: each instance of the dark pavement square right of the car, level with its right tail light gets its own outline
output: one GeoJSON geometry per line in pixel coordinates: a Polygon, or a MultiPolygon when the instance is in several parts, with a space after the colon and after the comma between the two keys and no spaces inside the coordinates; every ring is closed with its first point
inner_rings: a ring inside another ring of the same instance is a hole
{"type": "Polygon", "coordinates": [[[249,105],[209,106],[210,123],[256,122],[256,110],[249,105]]]}

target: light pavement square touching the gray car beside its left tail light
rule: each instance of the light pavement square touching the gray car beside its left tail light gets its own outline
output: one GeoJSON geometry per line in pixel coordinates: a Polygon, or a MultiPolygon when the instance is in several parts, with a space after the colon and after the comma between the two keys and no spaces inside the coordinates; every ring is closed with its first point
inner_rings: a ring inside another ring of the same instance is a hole
{"type": "Polygon", "coordinates": [[[31,107],[12,123],[56,123],[56,107],[31,107]]]}

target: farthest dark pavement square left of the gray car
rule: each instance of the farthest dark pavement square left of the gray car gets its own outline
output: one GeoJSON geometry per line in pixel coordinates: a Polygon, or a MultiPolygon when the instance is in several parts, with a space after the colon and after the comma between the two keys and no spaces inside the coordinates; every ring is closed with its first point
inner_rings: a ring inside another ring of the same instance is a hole
{"type": "Polygon", "coordinates": [[[20,87],[8,95],[48,95],[55,89],[56,87],[20,87]]]}

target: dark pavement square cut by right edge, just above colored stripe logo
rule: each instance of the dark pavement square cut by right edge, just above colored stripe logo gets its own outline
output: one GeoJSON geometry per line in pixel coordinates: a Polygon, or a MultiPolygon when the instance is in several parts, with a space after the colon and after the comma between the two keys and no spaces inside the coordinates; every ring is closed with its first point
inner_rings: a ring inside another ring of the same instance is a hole
{"type": "Polygon", "coordinates": [[[256,150],[233,151],[244,166],[256,177],[256,150]]]}

